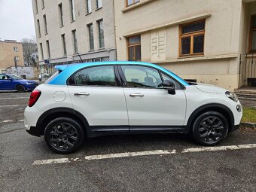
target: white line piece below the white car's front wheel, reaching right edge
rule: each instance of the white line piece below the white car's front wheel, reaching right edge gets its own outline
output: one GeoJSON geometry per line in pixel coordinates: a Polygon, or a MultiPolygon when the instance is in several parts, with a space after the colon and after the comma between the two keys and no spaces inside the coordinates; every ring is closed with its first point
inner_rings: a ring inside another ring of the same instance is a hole
{"type": "Polygon", "coordinates": [[[229,145],[229,146],[206,147],[206,148],[185,148],[181,153],[200,152],[200,151],[224,151],[227,149],[236,150],[236,149],[243,149],[243,148],[256,148],[256,144],[229,145]]]}

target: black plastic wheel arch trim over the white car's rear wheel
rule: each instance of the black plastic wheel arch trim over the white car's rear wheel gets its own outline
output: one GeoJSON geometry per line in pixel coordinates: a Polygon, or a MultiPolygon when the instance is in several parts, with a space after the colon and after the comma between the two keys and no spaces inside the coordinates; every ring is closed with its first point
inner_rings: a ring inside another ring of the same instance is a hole
{"type": "Polygon", "coordinates": [[[47,126],[47,123],[50,123],[51,120],[57,118],[57,117],[70,117],[74,120],[78,120],[79,123],[81,123],[81,126],[83,126],[85,133],[88,136],[88,121],[78,111],[75,111],[72,108],[51,108],[48,111],[45,111],[41,116],[38,118],[38,121],[36,123],[36,127],[38,128],[40,136],[44,135],[44,129],[45,126],[47,126]]]}

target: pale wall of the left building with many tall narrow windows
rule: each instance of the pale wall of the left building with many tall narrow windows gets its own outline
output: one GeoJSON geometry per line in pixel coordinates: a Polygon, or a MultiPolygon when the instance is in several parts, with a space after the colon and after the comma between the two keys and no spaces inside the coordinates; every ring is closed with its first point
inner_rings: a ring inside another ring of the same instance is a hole
{"type": "Polygon", "coordinates": [[[40,64],[44,64],[44,59],[50,59],[50,63],[80,61],[78,54],[74,53],[72,30],[76,30],[78,53],[82,59],[101,57],[109,57],[112,60],[116,59],[113,1],[102,0],[102,8],[97,9],[96,1],[91,0],[92,11],[90,14],[87,14],[86,2],[85,0],[74,1],[75,20],[72,21],[69,0],[44,1],[44,7],[41,4],[41,0],[32,0],[40,64]],[[38,13],[36,13],[35,8],[36,2],[38,13]],[[62,4],[64,26],[60,26],[59,4],[62,4]],[[47,34],[44,32],[44,15],[47,20],[47,34]],[[37,20],[40,23],[41,37],[38,32],[37,20]],[[98,20],[103,20],[104,48],[99,48],[98,20]],[[87,25],[90,23],[93,23],[94,50],[90,50],[89,47],[89,30],[87,25]],[[63,54],[62,34],[65,34],[66,37],[66,56],[63,54]],[[49,41],[50,44],[50,57],[47,53],[46,41],[49,41]],[[43,47],[44,58],[41,54],[40,44],[43,47]]]}

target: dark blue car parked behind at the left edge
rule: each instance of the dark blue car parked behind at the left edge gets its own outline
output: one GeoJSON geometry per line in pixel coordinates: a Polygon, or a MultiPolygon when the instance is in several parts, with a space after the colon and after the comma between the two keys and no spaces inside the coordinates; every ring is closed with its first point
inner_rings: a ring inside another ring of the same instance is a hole
{"type": "Polygon", "coordinates": [[[37,82],[20,78],[17,75],[0,74],[0,90],[25,92],[26,90],[34,90],[37,86],[37,82]]]}

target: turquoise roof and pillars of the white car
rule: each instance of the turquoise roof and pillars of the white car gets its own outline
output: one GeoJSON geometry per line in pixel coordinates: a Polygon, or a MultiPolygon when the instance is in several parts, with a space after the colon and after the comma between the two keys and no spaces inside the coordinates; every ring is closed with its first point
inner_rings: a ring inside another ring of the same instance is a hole
{"type": "Polygon", "coordinates": [[[77,72],[80,69],[83,69],[85,67],[89,66],[108,66],[108,65],[138,65],[138,66],[151,66],[155,69],[159,69],[162,72],[165,72],[166,74],[172,76],[172,78],[175,78],[177,81],[179,81],[184,86],[187,86],[186,81],[184,81],[182,78],[178,77],[178,75],[175,75],[172,72],[169,72],[167,69],[164,69],[161,66],[157,66],[155,64],[149,63],[149,62],[131,62],[131,61],[113,61],[113,62],[81,62],[81,63],[75,63],[75,64],[69,64],[69,65],[60,65],[55,66],[56,69],[59,71],[62,71],[57,75],[55,78],[53,78],[51,81],[48,82],[48,84],[59,84],[59,85],[65,85],[67,79],[75,72],[77,72]]]}

